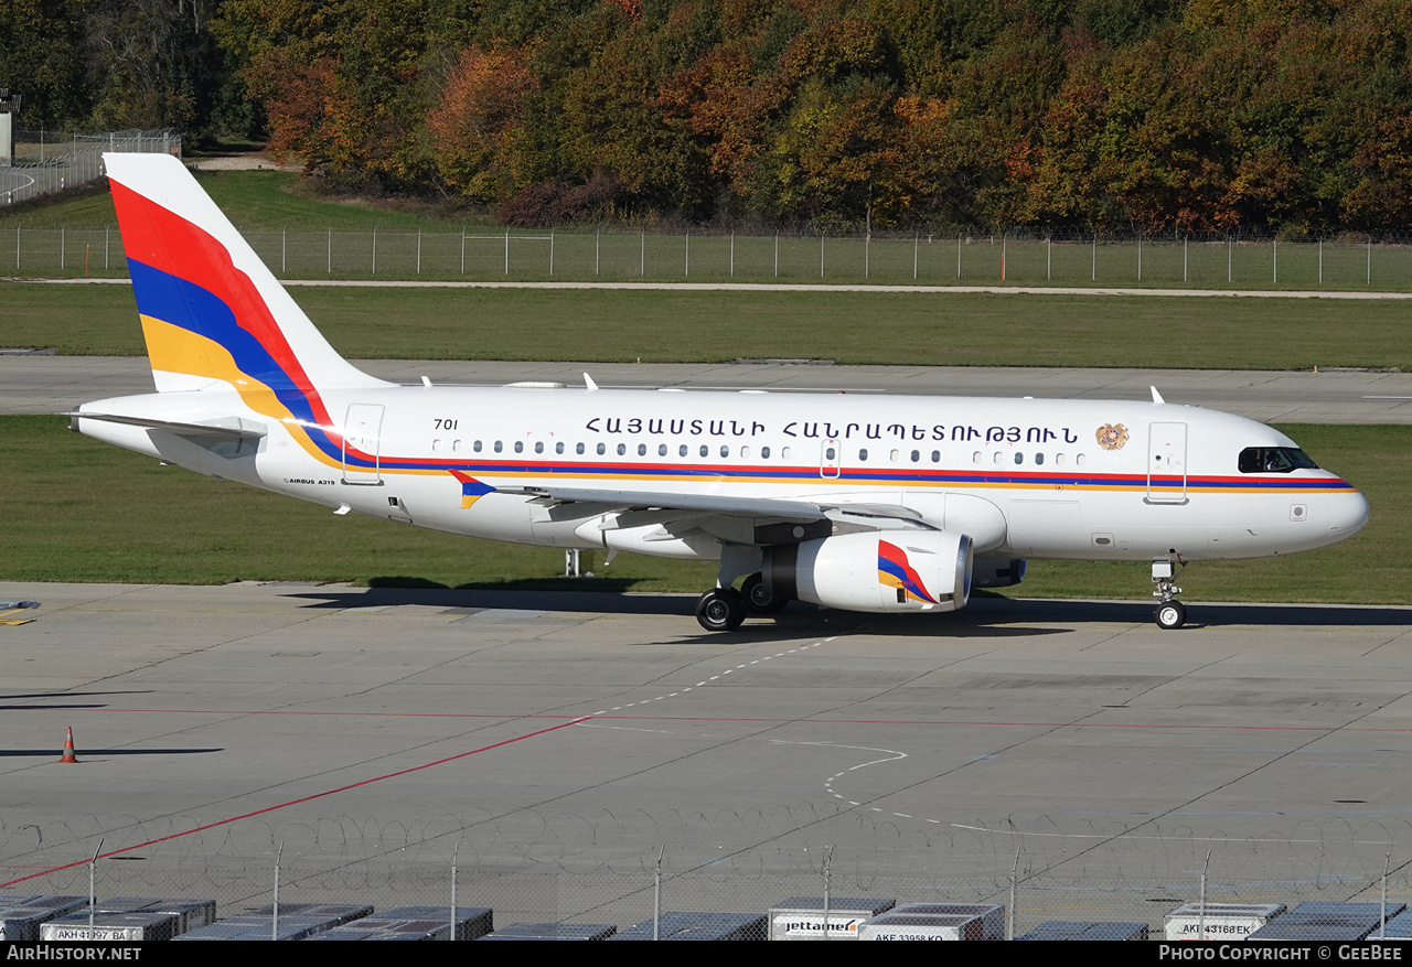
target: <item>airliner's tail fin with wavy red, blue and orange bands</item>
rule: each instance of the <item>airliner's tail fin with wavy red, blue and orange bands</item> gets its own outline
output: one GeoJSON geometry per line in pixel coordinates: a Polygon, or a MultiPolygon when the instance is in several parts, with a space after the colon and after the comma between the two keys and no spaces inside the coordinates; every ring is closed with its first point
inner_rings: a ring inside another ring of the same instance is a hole
{"type": "Polygon", "coordinates": [[[179,160],[103,162],[158,392],[234,387],[322,422],[321,390],[388,385],[329,346],[179,160]]]}

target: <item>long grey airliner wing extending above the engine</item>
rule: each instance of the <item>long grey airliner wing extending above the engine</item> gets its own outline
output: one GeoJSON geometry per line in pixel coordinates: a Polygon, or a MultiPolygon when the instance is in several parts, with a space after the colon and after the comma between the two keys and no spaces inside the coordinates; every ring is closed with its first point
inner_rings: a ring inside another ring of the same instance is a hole
{"type": "Polygon", "coordinates": [[[599,504],[611,510],[664,510],[724,517],[772,517],[785,521],[836,521],[860,529],[933,529],[909,507],[837,501],[731,497],[723,494],[674,494],[651,490],[590,490],[586,487],[500,487],[503,494],[539,497],[555,504],[599,504]]]}

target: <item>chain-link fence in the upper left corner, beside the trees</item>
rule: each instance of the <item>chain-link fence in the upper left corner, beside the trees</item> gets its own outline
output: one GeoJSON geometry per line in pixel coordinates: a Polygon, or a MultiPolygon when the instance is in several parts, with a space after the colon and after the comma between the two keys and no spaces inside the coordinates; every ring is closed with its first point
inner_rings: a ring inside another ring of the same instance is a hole
{"type": "Polygon", "coordinates": [[[14,131],[14,164],[0,168],[0,210],[97,181],[103,176],[104,151],[160,152],[179,158],[181,131],[64,134],[18,128],[14,131]]]}

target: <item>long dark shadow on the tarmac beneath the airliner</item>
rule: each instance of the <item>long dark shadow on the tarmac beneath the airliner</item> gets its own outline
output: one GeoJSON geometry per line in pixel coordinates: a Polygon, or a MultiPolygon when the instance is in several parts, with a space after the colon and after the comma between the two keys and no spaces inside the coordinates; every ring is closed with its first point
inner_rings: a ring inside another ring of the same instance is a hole
{"type": "MultiPolygon", "coordinates": [[[[481,611],[583,611],[597,614],[634,615],[693,615],[696,597],[690,594],[624,594],[606,590],[487,590],[449,587],[369,587],[328,589],[289,594],[305,599],[318,608],[367,608],[417,604],[439,607],[450,613],[479,614],[481,611]]],[[[1317,604],[1230,604],[1192,601],[1186,630],[1219,628],[1224,625],[1257,627],[1404,627],[1412,625],[1412,608],[1348,607],[1317,604]]],[[[760,634],[772,639],[779,631],[832,634],[861,631],[898,635],[1034,635],[1062,634],[1063,628],[1039,628],[1052,624],[1135,624],[1152,623],[1151,601],[1073,601],[1005,599],[998,594],[977,594],[970,604],[953,614],[878,615],[850,611],[830,611],[809,604],[791,604],[771,618],[751,618],[731,634],[760,634]],[[770,631],[774,634],[771,634],[770,631]]],[[[710,632],[707,639],[722,632],[710,632]]],[[[1180,632],[1173,632],[1180,634],[1180,632]]]]}

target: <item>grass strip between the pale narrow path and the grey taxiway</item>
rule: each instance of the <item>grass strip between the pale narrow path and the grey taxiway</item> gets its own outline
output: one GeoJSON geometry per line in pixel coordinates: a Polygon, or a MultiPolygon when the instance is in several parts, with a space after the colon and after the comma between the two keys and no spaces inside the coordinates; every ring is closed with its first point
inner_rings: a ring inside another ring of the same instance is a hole
{"type": "MultiPolygon", "coordinates": [[[[0,284],[0,344],[143,354],[131,289],[0,284]]],[[[298,288],[353,359],[1298,370],[1412,366],[1396,301],[902,292],[298,288]]]]}

